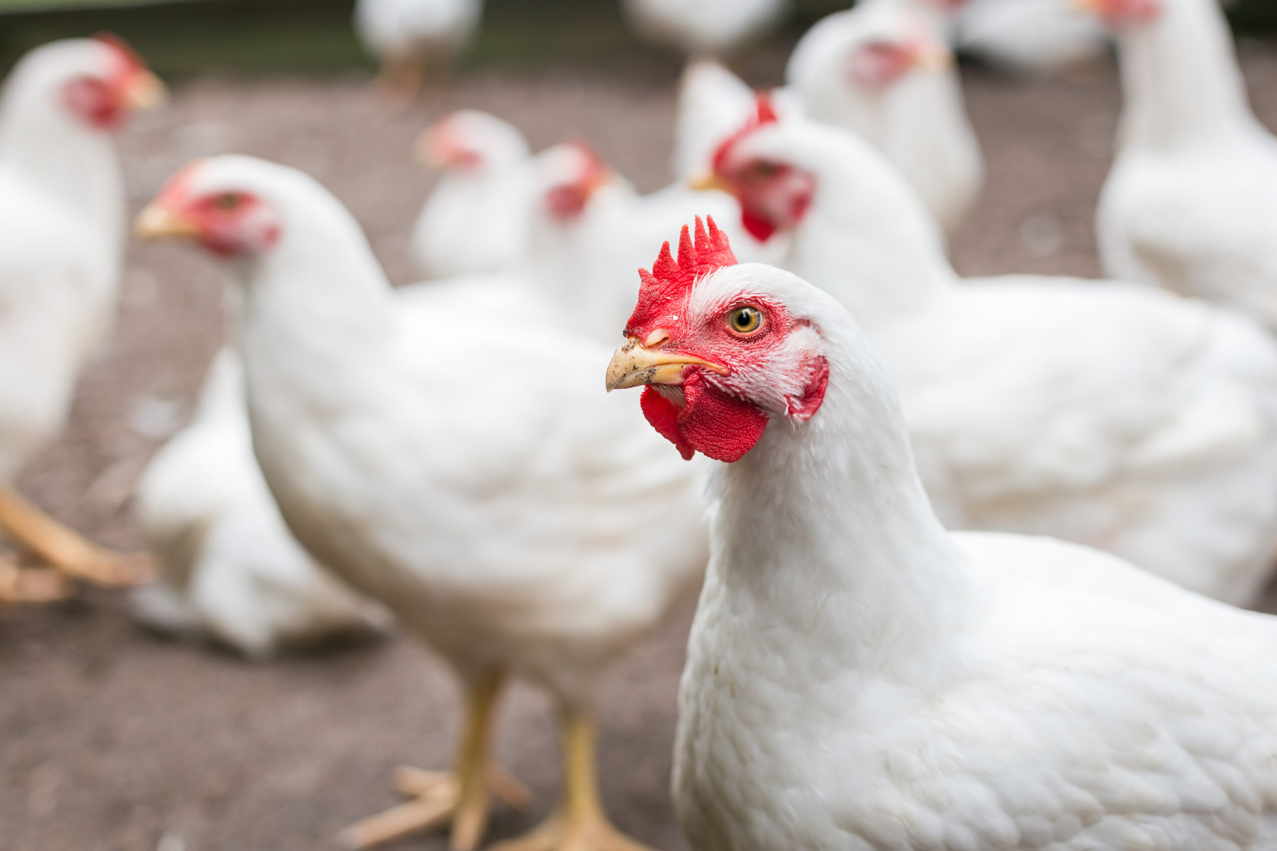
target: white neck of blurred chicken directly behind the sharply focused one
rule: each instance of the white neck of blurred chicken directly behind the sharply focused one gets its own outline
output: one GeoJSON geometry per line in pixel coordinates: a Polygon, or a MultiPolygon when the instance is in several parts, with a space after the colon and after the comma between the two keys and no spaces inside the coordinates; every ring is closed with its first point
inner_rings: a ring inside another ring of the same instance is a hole
{"type": "Polygon", "coordinates": [[[956,276],[922,202],[861,139],[807,126],[785,156],[815,175],[816,195],[783,265],[831,293],[870,330],[926,309],[956,276]]]}

